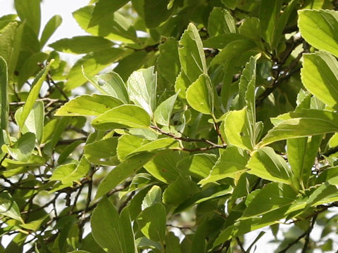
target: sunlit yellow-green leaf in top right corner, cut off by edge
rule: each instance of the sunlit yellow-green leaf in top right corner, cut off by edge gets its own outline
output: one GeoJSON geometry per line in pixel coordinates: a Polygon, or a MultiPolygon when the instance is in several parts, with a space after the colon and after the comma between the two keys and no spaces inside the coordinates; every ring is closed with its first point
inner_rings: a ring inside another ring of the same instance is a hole
{"type": "Polygon", "coordinates": [[[301,36],[308,44],[320,50],[329,51],[338,57],[337,11],[301,10],[298,15],[301,36]]]}

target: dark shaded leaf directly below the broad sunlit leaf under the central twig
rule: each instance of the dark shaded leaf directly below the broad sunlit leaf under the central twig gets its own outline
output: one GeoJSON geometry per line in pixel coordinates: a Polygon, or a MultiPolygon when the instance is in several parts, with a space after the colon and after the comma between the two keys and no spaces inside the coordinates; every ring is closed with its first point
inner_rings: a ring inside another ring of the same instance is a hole
{"type": "Polygon", "coordinates": [[[199,192],[199,187],[183,176],[178,176],[163,193],[163,202],[167,205],[180,205],[187,198],[199,192]]]}

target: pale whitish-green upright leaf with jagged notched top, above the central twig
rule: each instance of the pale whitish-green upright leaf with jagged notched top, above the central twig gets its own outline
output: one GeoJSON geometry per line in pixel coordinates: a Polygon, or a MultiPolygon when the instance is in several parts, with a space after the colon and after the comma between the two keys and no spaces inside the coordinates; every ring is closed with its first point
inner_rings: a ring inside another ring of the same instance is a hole
{"type": "Polygon", "coordinates": [[[137,70],[127,81],[127,91],[136,105],[144,108],[149,115],[153,115],[156,108],[157,76],[154,67],[137,70]]]}

